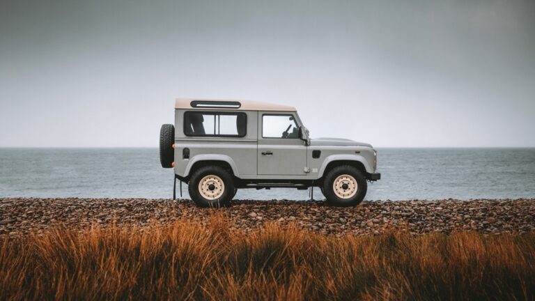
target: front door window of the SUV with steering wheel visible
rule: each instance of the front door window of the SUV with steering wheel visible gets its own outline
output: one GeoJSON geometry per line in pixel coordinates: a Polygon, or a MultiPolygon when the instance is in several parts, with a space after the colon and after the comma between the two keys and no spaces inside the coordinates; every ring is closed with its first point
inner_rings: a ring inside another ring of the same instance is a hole
{"type": "Polygon", "coordinates": [[[293,115],[262,116],[263,138],[299,138],[299,128],[293,115]]]}

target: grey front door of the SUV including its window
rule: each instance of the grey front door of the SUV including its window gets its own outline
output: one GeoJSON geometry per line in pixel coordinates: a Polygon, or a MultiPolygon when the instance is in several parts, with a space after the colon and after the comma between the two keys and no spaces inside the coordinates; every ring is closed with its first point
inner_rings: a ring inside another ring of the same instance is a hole
{"type": "Polygon", "coordinates": [[[258,175],[306,175],[307,146],[295,113],[259,112],[258,118],[258,175]]]}

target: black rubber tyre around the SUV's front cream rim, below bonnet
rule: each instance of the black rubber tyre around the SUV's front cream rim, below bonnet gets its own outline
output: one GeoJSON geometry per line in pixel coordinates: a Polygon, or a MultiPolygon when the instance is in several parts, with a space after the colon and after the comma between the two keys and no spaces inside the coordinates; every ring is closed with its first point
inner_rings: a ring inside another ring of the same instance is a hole
{"type": "Polygon", "coordinates": [[[323,194],[325,195],[327,202],[329,202],[333,206],[357,206],[360,202],[362,202],[364,196],[366,196],[367,190],[368,183],[366,183],[364,173],[350,165],[341,165],[339,167],[334,167],[334,169],[327,173],[327,176],[325,176],[325,180],[323,182],[323,194]],[[357,182],[357,191],[354,195],[348,196],[348,198],[339,197],[334,192],[334,180],[336,180],[336,178],[342,175],[352,176],[352,178],[354,178],[357,182]]]}

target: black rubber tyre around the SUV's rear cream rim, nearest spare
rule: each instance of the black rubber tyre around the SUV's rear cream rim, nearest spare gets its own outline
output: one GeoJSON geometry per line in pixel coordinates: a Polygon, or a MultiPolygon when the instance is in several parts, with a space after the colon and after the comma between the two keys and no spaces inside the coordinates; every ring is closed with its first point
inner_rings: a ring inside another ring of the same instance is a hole
{"type": "Polygon", "coordinates": [[[199,207],[219,208],[228,206],[235,194],[235,191],[236,190],[231,173],[228,173],[228,171],[218,166],[208,166],[197,169],[192,174],[192,177],[189,179],[188,183],[189,196],[192,197],[192,201],[194,201],[199,207]],[[200,191],[202,187],[199,187],[199,184],[201,184],[201,180],[207,176],[215,176],[223,181],[224,188],[222,188],[222,194],[217,197],[217,199],[208,199],[203,196],[203,194],[209,194],[214,191],[213,189],[210,191],[207,190],[203,193],[200,191]]]}

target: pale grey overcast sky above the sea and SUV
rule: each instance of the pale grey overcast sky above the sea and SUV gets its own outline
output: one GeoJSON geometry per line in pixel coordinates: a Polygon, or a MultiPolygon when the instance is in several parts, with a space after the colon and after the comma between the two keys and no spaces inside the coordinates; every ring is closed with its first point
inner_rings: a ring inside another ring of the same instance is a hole
{"type": "Polygon", "coordinates": [[[535,1],[0,0],[0,146],[152,146],[177,97],[312,137],[535,146],[535,1]]]}

